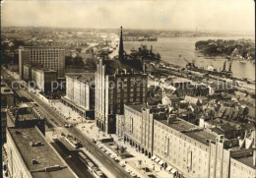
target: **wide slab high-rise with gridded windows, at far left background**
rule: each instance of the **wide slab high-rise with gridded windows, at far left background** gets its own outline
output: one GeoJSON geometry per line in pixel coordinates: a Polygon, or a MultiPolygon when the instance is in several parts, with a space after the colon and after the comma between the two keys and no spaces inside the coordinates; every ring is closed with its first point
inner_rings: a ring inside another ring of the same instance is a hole
{"type": "Polygon", "coordinates": [[[19,72],[24,79],[25,64],[41,64],[44,68],[57,71],[58,77],[64,77],[65,51],[52,46],[23,46],[19,49],[19,72]]]}

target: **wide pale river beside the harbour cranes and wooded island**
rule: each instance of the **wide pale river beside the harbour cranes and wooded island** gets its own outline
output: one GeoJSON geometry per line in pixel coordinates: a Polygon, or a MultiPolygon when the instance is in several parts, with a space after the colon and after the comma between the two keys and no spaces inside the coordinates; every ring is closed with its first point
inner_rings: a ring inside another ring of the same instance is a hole
{"type": "MultiPolygon", "coordinates": [[[[208,39],[240,39],[250,38],[254,39],[254,36],[220,36],[220,37],[160,37],[158,41],[124,41],[124,49],[128,53],[133,47],[138,49],[141,44],[147,45],[148,48],[153,45],[153,50],[158,51],[161,56],[161,60],[176,64],[179,66],[185,66],[186,58],[188,61],[195,61],[196,66],[207,68],[209,65],[213,65],[218,71],[223,69],[224,61],[226,59],[206,59],[205,57],[198,57],[195,53],[195,43],[198,40],[208,39]],[[179,57],[181,55],[181,57],[179,57]]],[[[202,55],[201,55],[202,56],[202,55]]],[[[228,69],[229,62],[226,62],[225,69],[228,69]]],[[[237,78],[248,78],[255,80],[255,64],[251,62],[241,63],[233,61],[232,63],[233,76],[237,78]]]]}

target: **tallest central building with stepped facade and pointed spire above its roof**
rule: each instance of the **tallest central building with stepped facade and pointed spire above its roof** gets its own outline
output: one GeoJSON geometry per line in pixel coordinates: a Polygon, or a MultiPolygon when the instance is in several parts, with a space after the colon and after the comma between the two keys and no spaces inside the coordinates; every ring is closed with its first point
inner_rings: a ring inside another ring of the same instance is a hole
{"type": "Polygon", "coordinates": [[[116,114],[123,114],[125,103],[143,103],[147,98],[148,76],[140,60],[123,56],[122,28],[119,57],[99,59],[96,65],[96,126],[116,133],[116,114]]]}

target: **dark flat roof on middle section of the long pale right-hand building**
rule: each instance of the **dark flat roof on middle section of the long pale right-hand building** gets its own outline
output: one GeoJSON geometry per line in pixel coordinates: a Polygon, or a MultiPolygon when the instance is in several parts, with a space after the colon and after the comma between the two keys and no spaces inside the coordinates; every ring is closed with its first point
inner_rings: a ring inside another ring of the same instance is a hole
{"type": "Polygon", "coordinates": [[[196,129],[198,127],[179,118],[175,119],[174,122],[171,124],[168,124],[166,119],[158,121],[207,146],[209,145],[209,142],[207,142],[207,140],[215,141],[217,138],[214,134],[205,130],[190,130],[196,129]]]}

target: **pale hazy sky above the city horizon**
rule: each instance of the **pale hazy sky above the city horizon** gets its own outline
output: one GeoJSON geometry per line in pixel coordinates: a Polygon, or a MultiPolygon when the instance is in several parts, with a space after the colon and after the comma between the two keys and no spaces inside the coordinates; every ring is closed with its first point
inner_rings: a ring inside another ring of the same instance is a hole
{"type": "Polygon", "coordinates": [[[5,0],[3,27],[254,31],[254,0],[5,0]]]}

